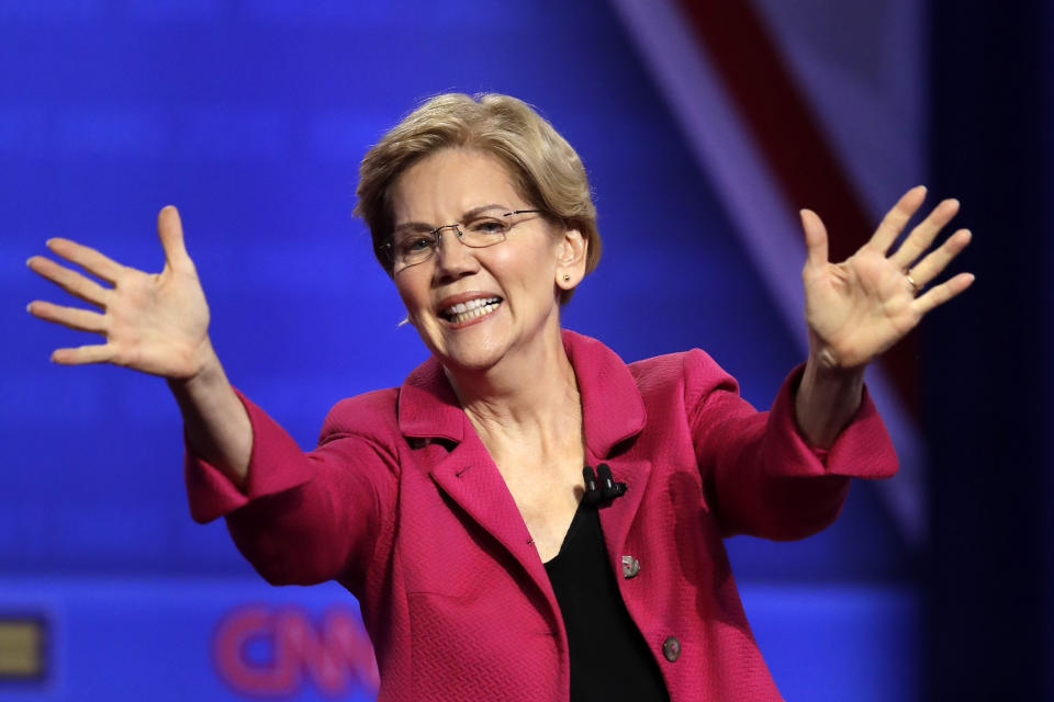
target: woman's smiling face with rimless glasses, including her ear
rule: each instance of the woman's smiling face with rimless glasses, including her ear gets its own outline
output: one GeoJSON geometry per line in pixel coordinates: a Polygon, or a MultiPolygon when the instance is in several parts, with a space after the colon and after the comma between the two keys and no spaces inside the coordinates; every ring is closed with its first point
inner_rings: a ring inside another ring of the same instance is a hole
{"type": "MultiPolygon", "coordinates": [[[[418,161],[399,178],[392,195],[396,231],[464,222],[481,208],[497,217],[534,208],[501,161],[470,149],[444,149],[418,161]]],[[[502,244],[470,248],[453,228],[442,229],[431,258],[396,267],[395,286],[411,324],[449,370],[486,370],[551,341],[550,335],[559,339],[557,295],[581,280],[568,264],[581,236],[554,229],[540,214],[509,219],[514,226],[502,244]]]]}

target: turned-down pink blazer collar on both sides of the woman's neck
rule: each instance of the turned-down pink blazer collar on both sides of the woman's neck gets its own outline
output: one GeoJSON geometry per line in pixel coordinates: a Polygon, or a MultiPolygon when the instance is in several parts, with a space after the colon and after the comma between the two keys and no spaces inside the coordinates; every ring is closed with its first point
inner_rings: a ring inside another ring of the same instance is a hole
{"type": "MultiPolygon", "coordinates": [[[[643,429],[643,399],[629,369],[614,351],[567,329],[562,337],[582,395],[586,448],[597,458],[605,458],[617,443],[643,429]]],[[[399,393],[399,428],[404,435],[460,443],[464,423],[457,395],[435,356],[406,376],[399,393]]]]}

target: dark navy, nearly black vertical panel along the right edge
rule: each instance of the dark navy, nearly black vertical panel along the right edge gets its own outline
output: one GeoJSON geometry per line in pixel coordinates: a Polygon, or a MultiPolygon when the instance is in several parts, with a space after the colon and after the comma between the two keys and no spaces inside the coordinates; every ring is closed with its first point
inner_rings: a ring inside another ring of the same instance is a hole
{"type": "Polygon", "coordinates": [[[934,181],[978,279],[926,327],[930,699],[1051,699],[1051,11],[931,7],[934,181]]]}

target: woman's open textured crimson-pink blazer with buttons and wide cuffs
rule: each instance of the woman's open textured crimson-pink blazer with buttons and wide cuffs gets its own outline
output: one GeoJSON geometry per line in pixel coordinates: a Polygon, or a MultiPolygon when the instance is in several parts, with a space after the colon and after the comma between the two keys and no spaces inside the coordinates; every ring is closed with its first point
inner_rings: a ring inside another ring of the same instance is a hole
{"type": "MultiPolygon", "coordinates": [[[[671,700],[780,700],[722,537],[798,539],[834,520],[849,476],[896,456],[871,399],[828,451],[794,422],[800,371],[769,412],[704,352],[626,365],[571,331],[586,460],[628,491],[601,510],[612,573],[671,700]],[[624,569],[627,563],[639,568],[624,569]]],[[[226,517],[273,584],[337,579],[359,599],[378,699],[567,700],[567,634],[513,498],[435,359],[338,403],[304,453],[248,399],[247,494],[188,455],[194,519],[226,517]]]]}

